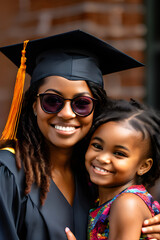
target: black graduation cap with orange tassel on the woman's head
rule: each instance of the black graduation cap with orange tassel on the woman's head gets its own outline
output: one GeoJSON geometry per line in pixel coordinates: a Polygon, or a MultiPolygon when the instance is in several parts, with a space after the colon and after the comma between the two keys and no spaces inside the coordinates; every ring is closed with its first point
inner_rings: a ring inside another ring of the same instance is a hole
{"type": "MultiPolygon", "coordinates": [[[[108,43],[81,30],[25,41],[2,47],[0,51],[16,66],[21,61],[12,102],[12,117],[9,117],[12,122],[14,114],[20,115],[20,108],[15,105],[21,105],[25,70],[31,75],[31,84],[48,76],[62,76],[69,80],[92,81],[102,87],[102,75],[143,66],[108,43]]],[[[10,121],[1,139],[15,139],[16,130],[13,136],[10,132],[13,132],[11,128],[17,128],[18,120],[14,120],[14,127],[10,121]]]]}

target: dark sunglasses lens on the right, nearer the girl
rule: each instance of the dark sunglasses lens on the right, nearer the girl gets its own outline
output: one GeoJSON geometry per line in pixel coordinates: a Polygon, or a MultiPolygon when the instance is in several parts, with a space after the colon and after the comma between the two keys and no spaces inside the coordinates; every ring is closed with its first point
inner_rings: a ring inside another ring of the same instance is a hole
{"type": "Polygon", "coordinates": [[[79,116],[87,116],[93,110],[93,100],[89,97],[77,97],[72,102],[74,112],[79,116]]]}

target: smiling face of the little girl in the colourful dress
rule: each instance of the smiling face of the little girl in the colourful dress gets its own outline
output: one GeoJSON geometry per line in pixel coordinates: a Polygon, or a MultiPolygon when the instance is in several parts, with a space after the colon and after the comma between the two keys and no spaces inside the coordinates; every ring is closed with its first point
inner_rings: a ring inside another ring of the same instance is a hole
{"type": "Polygon", "coordinates": [[[136,174],[144,173],[148,149],[148,138],[143,139],[127,121],[101,125],[85,156],[91,181],[103,187],[135,184],[136,174]]]}

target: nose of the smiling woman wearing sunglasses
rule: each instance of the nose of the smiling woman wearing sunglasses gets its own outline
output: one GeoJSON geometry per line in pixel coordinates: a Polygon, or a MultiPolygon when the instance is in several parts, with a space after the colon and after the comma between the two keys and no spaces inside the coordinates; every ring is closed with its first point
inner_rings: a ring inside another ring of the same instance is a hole
{"type": "Polygon", "coordinates": [[[66,100],[64,103],[64,107],[60,112],[57,113],[58,117],[64,118],[64,119],[70,119],[75,118],[76,114],[73,112],[71,108],[71,102],[70,100],[66,100]]]}

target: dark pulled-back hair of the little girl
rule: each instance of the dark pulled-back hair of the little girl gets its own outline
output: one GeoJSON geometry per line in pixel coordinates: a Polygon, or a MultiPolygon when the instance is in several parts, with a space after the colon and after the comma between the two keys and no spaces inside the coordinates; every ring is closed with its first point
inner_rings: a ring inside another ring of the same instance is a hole
{"type": "Polygon", "coordinates": [[[151,187],[160,176],[160,113],[133,99],[108,100],[103,112],[95,119],[90,136],[104,123],[123,120],[127,120],[136,131],[140,131],[143,139],[150,138],[148,157],[153,159],[153,165],[146,174],[137,176],[137,183],[151,187]]]}

